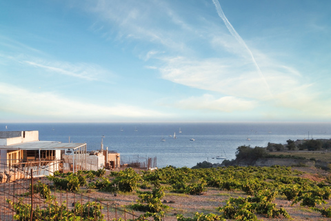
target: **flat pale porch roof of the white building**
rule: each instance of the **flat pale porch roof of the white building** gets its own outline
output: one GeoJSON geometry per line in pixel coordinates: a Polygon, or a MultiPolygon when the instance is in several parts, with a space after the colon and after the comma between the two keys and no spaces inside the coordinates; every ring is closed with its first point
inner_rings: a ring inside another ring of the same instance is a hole
{"type": "Polygon", "coordinates": [[[1,146],[0,149],[6,149],[10,151],[17,150],[65,150],[66,148],[76,149],[86,144],[77,144],[77,143],[61,143],[54,141],[34,141],[34,142],[25,142],[19,144],[12,144],[8,146],[1,146]]]}

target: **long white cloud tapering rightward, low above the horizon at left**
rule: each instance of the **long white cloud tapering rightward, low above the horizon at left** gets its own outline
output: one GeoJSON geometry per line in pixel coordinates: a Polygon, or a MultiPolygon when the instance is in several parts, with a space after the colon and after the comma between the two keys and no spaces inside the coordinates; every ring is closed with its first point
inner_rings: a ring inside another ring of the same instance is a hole
{"type": "Polygon", "coordinates": [[[35,93],[0,83],[0,110],[3,113],[63,118],[109,119],[110,117],[165,117],[163,113],[137,106],[101,106],[63,98],[52,93],[35,93]]]}

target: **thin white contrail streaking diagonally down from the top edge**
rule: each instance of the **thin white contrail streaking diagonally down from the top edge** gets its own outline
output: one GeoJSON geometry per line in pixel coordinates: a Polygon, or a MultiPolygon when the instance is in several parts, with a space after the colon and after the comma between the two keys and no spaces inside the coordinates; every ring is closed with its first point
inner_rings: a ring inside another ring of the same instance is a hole
{"type": "Polygon", "coordinates": [[[248,46],[245,44],[245,41],[243,41],[243,39],[240,37],[240,35],[236,32],[236,30],[234,30],[234,28],[232,27],[231,23],[228,21],[228,19],[225,17],[224,12],[221,8],[221,5],[219,4],[218,0],[212,0],[212,2],[215,5],[215,8],[217,10],[217,14],[219,14],[219,17],[221,17],[221,19],[224,21],[226,28],[228,28],[229,32],[231,33],[231,35],[237,39],[237,41],[239,42],[239,44],[242,44],[250,53],[250,57],[252,57],[253,63],[255,65],[255,67],[257,68],[257,72],[259,73],[260,77],[263,79],[263,82],[265,84],[265,86],[268,88],[268,92],[270,93],[270,95],[272,95],[268,82],[265,81],[265,77],[263,76],[263,73],[261,72],[260,67],[257,65],[257,61],[255,61],[254,56],[252,54],[252,51],[250,50],[250,48],[248,48],[248,46]]]}

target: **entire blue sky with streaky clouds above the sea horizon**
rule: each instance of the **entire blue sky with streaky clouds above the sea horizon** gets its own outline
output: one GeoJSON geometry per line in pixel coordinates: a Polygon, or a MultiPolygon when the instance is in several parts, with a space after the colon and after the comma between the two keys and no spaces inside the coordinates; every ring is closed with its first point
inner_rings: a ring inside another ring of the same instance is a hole
{"type": "Polygon", "coordinates": [[[1,1],[0,122],[330,122],[331,1],[1,1]]]}

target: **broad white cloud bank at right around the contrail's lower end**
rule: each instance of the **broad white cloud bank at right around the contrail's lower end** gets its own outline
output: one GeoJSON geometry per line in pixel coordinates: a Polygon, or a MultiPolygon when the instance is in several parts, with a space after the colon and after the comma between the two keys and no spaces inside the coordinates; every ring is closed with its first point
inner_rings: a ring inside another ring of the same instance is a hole
{"type": "MultiPolygon", "coordinates": [[[[277,65],[259,56],[272,97],[265,90],[264,82],[250,64],[237,64],[236,59],[190,60],[184,57],[165,59],[167,64],[160,68],[163,79],[220,94],[221,99],[203,95],[190,97],[174,106],[185,109],[219,111],[246,111],[263,106],[263,110],[278,111],[276,116],[292,115],[330,117],[331,102],[321,101],[314,93],[314,84],[301,82],[301,74],[294,68],[277,65]],[[226,98],[226,99],[225,99],[226,98]],[[203,101],[205,99],[205,102],[203,101]],[[228,106],[226,102],[229,102],[228,106]],[[242,103],[240,106],[239,104],[242,103]],[[223,106],[223,107],[222,107],[223,106]],[[247,107],[247,108],[245,108],[247,107]]],[[[265,56],[268,57],[268,56],[265,56]]],[[[268,115],[268,113],[265,113],[268,115]]]]}

